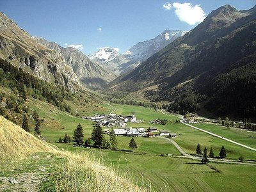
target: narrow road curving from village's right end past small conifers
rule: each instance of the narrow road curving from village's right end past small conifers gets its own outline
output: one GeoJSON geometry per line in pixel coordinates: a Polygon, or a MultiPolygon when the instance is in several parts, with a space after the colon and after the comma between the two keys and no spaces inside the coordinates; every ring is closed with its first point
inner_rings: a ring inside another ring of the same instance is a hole
{"type": "MultiPolygon", "coordinates": [[[[175,141],[173,141],[170,138],[164,138],[164,137],[161,137],[161,136],[157,136],[157,138],[163,138],[164,140],[170,141],[177,148],[177,150],[179,150],[179,152],[184,157],[187,157],[189,159],[199,160],[199,161],[202,160],[202,157],[191,156],[190,154],[187,154],[186,152],[184,152],[184,150],[182,150],[182,148],[178,145],[178,143],[176,143],[175,141]]],[[[241,162],[237,162],[237,161],[234,161],[234,160],[228,160],[228,159],[212,159],[212,158],[209,158],[209,161],[210,162],[215,162],[215,163],[247,164],[247,165],[255,165],[256,166],[256,163],[246,163],[246,162],[241,163],[241,162]]]]}

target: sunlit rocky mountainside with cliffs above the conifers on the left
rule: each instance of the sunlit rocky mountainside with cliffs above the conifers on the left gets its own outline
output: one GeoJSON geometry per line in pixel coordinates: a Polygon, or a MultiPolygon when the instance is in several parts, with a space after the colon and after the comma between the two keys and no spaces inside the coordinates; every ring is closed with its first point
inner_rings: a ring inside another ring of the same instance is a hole
{"type": "Polygon", "coordinates": [[[47,49],[0,13],[0,58],[22,67],[47,82],[75,90],[79,79],[60,52],[47,49]]]}

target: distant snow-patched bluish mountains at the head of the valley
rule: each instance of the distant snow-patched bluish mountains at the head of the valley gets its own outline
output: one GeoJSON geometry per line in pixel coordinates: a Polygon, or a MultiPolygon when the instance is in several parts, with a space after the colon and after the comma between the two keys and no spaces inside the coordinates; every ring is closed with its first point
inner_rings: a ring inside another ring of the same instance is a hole
{"type": "Polygon", "coordinates": [[[153,39],[133,45],[124,54],[118,54],[118,50],[115,48],[103,47],[95,52],[95,54],[89,55],[89,58],[97,61],[104,67],[108,67],[116,74],[124,74],[136,68],[141,62],[147,60],[154,53],[160,51],[163,47],[187,32],[165,30],[153,39]]]}

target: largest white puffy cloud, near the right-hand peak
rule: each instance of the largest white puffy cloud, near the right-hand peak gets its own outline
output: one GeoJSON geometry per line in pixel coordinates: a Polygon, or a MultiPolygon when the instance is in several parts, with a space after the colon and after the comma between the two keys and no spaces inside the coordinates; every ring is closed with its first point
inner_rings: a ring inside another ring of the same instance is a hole
{"type": "Polygon", "coordinates": [[[195,25],[205,19],[205,12],[200,7],[200,4],[192,6],[191,3],[173,3],[172,6],[175,8],[177,17],[189,25],[195,25]]]}

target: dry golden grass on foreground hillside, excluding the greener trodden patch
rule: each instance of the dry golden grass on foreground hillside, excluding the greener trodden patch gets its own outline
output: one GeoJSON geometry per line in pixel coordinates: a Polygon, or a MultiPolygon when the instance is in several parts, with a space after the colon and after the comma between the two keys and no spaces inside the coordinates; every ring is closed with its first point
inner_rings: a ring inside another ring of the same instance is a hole
{"type": "Polygon", "coordinates": [[[50,152],[63,159],[54,164],[56,172],[52,173],[56,191],[150,191],[150,186],[136,186],[88,154],[57,150],[0,116],[0,163],[19,161],[36,152],[50,152]]]}

